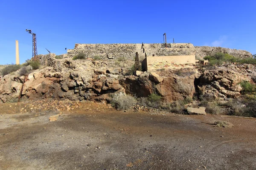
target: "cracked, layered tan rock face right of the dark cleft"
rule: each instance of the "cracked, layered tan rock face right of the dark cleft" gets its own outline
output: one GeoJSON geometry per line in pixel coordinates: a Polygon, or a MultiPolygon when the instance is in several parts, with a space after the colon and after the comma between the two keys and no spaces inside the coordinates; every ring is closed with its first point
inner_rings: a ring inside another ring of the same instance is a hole
{"type": "Polygon", "coordinates": [[[239,82],[249,81],[249,77],[230,71],[224,68],[218,70],[208,70],[200,77],[198,88],[203,96],[211,96],[214,99],[221,98],[237,98],[242,90],[239,82]]]}

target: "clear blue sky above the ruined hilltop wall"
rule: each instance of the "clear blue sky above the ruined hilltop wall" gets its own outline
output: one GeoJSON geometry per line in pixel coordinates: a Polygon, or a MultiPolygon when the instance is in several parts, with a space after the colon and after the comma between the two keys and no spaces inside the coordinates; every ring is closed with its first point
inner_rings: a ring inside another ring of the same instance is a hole
{"type": "Polygon", "coordinates": [[[38,54],[64,54],[75,43],[190,42],[256,54],[255,0],[0,0],[0,64],[38,54]]]}

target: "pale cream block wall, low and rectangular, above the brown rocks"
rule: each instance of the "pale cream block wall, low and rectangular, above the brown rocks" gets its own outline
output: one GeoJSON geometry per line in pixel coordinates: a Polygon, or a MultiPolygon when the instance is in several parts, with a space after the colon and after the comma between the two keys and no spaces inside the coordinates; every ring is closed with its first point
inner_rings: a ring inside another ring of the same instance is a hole
{"type": "Polygon", "coordinates": [[[183,68],[195,65],[195,55],[147,57],[147,71],[161,68],[183,68]]]}

